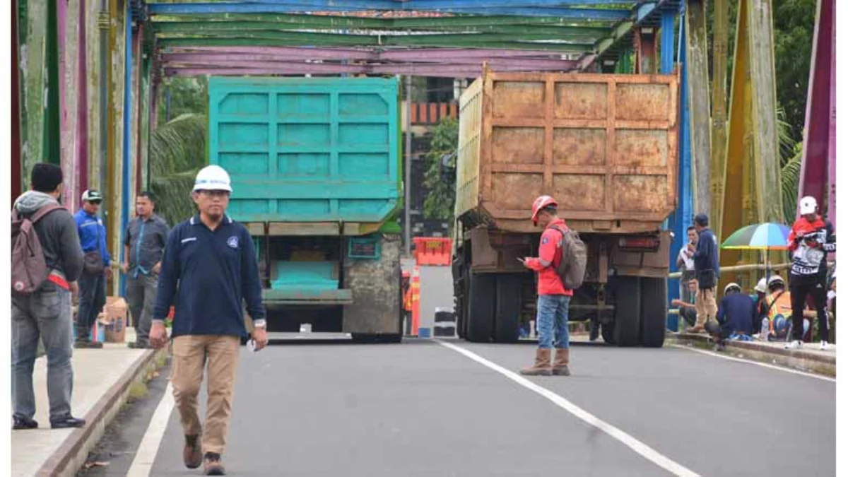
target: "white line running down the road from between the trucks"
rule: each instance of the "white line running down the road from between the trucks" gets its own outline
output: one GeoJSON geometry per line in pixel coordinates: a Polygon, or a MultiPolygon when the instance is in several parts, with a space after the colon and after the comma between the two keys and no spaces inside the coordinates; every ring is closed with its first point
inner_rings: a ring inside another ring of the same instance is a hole
{"type": "Polygon", "coordinates": [[[461,346],[453,345],[453,344],[450,344],[450,343],[447,343],[447,342],[441,341],[441,340],[438,340],[438,343],[440,345],[445,346],[446,348],[449,348],[449,349],[456,351],[456,352],[458,352],[462,355],[465,355],[468,358],[471,358],[471,360],[473,360],[473,361],[479,362],[480,364],[482,364],[486,368],[489,368],[493,371],[496,371],[500,374],[503,374],[506,378],[515,381],[517,384],[521,384],[522,386],[524,386],[528,390],[532,390],[533,392],[535,392],[539,396],[543,396],[543,397],[547,398],[548,401],[553,402],[555,405],[565,409],[567,412],[571,412],[576,418],[582,420],[586,424],[589,424],[591,426],[594,426],[597,429],[602,430],[607,435],[610,435],[610,437],[612,437],[616,441],[619,441],[622,444],[624,444],[625,446],[630,447],[633,450],[633,452],[636,452],[640,456],[649,460],[651,463],[655,463],[657,466],[661,467],[662,469],[666,469],[668,472],[670,472],[674,475],[678,475],[678,477],[698,477],[699,476],[699,474],[696,474],[692,470],[689,470],[689,469],[683,467],[683,465],[672,461],[672,459],[662,455],[660,452],[656,452],[656,450],[654,450],[653,448],[651,448],[650,446],[648,446],[644,442],[639,441],[638,439],[636,439],[632,435],[629,435],[628,433],[624,432],[622,429],[618,429],[618,428],[616,428],[616,426],[609,424],[609,423],[605,422],[604,420],[597,418],[594,415],[590,414],[589,412],[583,410],[583,408],[577,407],[577,405],[572,403],[572,401],[568,401],[566,398],[556,394],[554,391],[543,388],[542,386],[533,383],[533,381],[531,381],[529,379],[522,378],[521,375],[519,375],[517,373],[513,373],[512,371],[510,371],[506,368],[503,368],[503,367],[495,364],[494,362],[490,362],[490,361],[488,361],[488,359],[484,358],[483,356],[479,356],[476,353],[474,353],[472,351],[468,351],[461,346]]]}

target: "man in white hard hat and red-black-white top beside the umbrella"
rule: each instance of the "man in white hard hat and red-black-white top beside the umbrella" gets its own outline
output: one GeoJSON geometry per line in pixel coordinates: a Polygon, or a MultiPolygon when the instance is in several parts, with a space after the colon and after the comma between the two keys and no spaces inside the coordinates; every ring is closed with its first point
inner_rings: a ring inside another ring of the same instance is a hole
{"type": "Polygon", "coordinates": [[[828,347],[828,253],[836,251],[834,225],[818,214],[816,199],[806,196],[798,207],[801,217],[789,233],[789,291],[792,294],[792,340],[787,349],[801,348],[804,307],[812,296],[818,316],[820,349],[828,347]]]}

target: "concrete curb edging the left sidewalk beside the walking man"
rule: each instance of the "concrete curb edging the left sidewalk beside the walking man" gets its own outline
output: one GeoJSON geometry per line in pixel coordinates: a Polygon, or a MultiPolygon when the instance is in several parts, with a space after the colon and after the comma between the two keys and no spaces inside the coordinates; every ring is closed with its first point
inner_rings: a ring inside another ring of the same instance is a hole
{"type": "Polygon", "coordinates": [[[88,452],[97,445],[106,427],[126,402],[132,384],[144,383],[148,372],[157,368],[159,356],[168,356],[170,346],[144,351],[86,413],[86,427],[75,429],[36,473],[37,477],[74,477],[86,463],[88,452]]]}

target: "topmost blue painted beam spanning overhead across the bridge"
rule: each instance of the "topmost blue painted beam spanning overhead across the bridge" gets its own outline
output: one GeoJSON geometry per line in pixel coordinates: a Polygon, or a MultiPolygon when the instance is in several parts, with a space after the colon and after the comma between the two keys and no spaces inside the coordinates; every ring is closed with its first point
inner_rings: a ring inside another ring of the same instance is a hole
{"type": "MultiPolygon", "coordinates": [[[[377,2],[381,4],[381,2],[377,2]]],[[[398,3],[394,3],[397,5],[398,3]]],[[[403,5],[406,5],[404,3],[403,5]]],[[[628,9],[605,8],[553,8],[553,7],[485,7],[446,6],[444,8],[375,8],[374,2],[352,0],[343,5],[332,0],[302,0],[300,3],[151,3],[150,14],[287,14],[306,11],[353,12],[366,9],[381,10],[432,10],[455,14],[502,14],[518,16],[559,17],[576,20],[618,21],[630,17],[628,9]]]]}

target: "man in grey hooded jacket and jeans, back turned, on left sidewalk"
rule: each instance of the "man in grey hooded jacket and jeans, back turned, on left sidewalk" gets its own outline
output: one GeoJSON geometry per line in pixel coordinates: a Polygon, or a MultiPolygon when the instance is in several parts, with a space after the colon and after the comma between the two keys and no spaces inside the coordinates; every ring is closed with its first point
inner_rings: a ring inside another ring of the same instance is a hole
{"type": "MultiPolygon", "coordinates": [[[[14,201],[20,216],[34,216],[48,205],[59,205],[62,194],[62,169],[53,164],[36,164],[31,172],[31,190],[14,201]]],[[[70,395],[74,371],[70,331],[71,283],[82,271],[82,250],[76,223],[70,211],[53,210],[35,223],[47,269],[47,280],[31,295],[12,295],[12,429],[36,429],[36,396],[32,387],[32,369],[38,340],[47,353],[47,397],[50,401],[50,425],[56,428],[82,427],[83,419],[70,413],[70,395]]]]}

